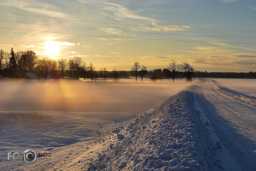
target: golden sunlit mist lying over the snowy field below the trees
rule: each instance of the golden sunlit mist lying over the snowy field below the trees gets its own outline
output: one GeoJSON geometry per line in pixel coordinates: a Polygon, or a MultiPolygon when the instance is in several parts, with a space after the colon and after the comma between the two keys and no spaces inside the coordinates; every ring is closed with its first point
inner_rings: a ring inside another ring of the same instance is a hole
{"type": "Polygon", "coordinates": [[[0,81],[0,109],[139,113],[189,85],[144,82],[0,81]]]}

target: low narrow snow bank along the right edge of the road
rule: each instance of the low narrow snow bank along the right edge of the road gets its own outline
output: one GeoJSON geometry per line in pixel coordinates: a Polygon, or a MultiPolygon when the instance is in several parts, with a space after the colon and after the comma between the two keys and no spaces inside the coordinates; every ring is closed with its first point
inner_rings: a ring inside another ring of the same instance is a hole
{"type": "Polygon", "coordinates": [[[212,82],[212,84],[215,86],[215,88],[219,92],[221,92],[223,94],[226,94],[226,95],[228,95],[228,96],[230,96],[230,97],[232,97],[232,98],[234,98],[236,100],[240,100],[241,102],[246,102],[248,104],[256,106],[256,97],[237,93],[234,90],[231,90],[231,89],[229,89],[227,87],[222,86],[217,81],[214,81],[214,80],[211,80],[211,79],[210,79],[210,81],[212,82]]]}

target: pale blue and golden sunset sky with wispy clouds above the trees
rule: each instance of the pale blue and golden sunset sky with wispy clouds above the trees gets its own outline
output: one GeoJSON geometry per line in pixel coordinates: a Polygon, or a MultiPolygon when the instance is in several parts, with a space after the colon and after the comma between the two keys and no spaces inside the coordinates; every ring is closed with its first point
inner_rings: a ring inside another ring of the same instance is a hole
{"type": "Polygon", "coordinates": [[[1,0],[0,20],[0,49],[78,56],[97,70],[256,71],[255,0],[1,0]]]}

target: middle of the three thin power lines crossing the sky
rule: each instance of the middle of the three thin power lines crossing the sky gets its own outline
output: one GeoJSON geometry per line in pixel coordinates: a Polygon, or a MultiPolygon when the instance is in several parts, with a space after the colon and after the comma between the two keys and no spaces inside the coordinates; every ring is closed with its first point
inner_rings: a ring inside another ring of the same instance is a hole
{"type": "Polygon", "coordinates": [[[124,30],[110,30],[110,29],[100,29],[100,28],[86,28],[86,27],[71,27],[71,26],[60,26],[60,25],[49,25],[49,24],[37,24],[37,23],[19,22],[19,21],[6,21],[6,20],[0,20],[0,21],[21,23],[21,24],[54,26],[54,27],[82,28],[82,29],[90,29],[90,30],[119,31],[119,32],[132,32],[132,33],[150,33],[150,34],[161,34],[161,35],[200,36],[200,37],[226,37],[226,38],[256,38],[256,37],[232,37],[232,36],[185,35],[185,34],[174,34],[174,33],[154,33],[154,32],[124,31],[124,30]]]}

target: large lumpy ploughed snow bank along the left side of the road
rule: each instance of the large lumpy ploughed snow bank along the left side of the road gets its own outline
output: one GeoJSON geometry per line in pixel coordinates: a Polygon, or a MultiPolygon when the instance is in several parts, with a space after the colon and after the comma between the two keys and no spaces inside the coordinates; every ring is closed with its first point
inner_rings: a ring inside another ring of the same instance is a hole
{"type": "Polygon", "coordinates": [[[121,130],[109,151],[85,170],[220,170],[214,144],[193,108],[193,92],[182,90],[121,130]]]}

